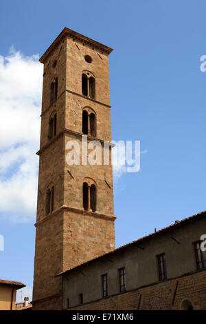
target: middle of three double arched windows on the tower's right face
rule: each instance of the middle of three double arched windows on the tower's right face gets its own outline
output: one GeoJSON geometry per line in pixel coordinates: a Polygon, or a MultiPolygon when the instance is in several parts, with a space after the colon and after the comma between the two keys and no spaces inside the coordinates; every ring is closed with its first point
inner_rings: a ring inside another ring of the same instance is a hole
{"type": "Polygon", "coordinates": [[[82,111],[82,133],[96,136],[96,116],[91,108],[84,108],[82,111]]]}

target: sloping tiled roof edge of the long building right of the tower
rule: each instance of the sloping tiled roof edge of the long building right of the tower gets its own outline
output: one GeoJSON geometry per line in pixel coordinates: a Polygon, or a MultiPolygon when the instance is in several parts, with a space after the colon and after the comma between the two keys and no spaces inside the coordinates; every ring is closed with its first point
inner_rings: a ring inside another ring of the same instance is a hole
{"type": "Polygon", "coordinates": [[[137,243],[140,243],[141,241],[145,241],[145,240],[150,239],[150,238],[152,238],[154,236],[158,236],[159,234],[163,234],[164,232],[168,232],[170,230],[173,230],[176,227],[185,225],[185,223],[189,223],[190,221],[195,221],[196,219],[203,218],[204,216],[206,216],[206,210],[204,210],[203,212],[199,212],[198,214],[194,214],[194,215],[192,215],[190,217],[186,217],[185,219],[182,219],[181,221],[175,221],[175,223],[173,223],[172,225],[169,225],[167,227],[163,227],[161,230],[159,230],[157,232],[153,232],[153,233],[148,234],[146,236],[143,236],[140,239],[137,239],[137,240],[135,240],[133,242],[130,242],[130,243],[127,243],[127,244],[122,245],[120,247],[117,247],[117,249],[115,249],[115,250],[111,250],[110,252],[107,252],[105,254],[101,254],[100,256],[96,256],[95,258],[90,259],[90,260],[88,260],[88,261],[86,261],[84,263],[80,263],[80,264],[76,265],[75,267],[71,267],[71,268],[67,269],[64,272],[60,272],[59,274],[56,274],[56,276],[61,276],[62,274],[65,274],[65,273],[67,273],[67,272],[69,272],[71,270],[75,270],[78,267],[81,267],[82,265],[87,265],[89,263],[92,263],[95,260],[102,259],[105,256],[109,256],[109,255],[111,255],[111,254],[113,254],[115,252],[118,252],[119,250],[124,250],[126,247],[133,246],[133,245],[135,245],[137,243]]]}

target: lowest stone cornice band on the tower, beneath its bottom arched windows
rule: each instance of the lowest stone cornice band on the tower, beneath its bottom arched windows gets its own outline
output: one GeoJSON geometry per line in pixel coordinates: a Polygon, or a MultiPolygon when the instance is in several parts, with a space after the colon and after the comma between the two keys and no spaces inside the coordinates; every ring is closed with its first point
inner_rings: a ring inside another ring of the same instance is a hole
{"type": "Polygon", "coordinates": [[[41,225],[45,221],[48,221],[49,219],[51,219],[52,216],[55,216],[56,214],[58,214],[59,212],[62,212],[64,210],[67,212],[82,214],[82,216],[92,216],[94,218],[106,219],[108,221],[115,221],[115,219],[117,218],[115,215],[105,215],[105,214],[100,214],[99,212],[89,212],[87,210],[80,210],[78,208],[62,206],[58,210],[55,210],[51,214],[45,216],[43,219],[41,219],[41,221],[38,221],[37,223],[35,223],[34,226],[36,227],[38,225],[41,225]]]}

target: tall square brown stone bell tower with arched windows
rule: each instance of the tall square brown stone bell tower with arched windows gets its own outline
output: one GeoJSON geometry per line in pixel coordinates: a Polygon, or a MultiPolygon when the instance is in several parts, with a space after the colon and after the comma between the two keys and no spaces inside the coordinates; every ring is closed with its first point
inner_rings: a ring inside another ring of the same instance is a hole
{"type": "Polygon", "coordinates": [[[111,159],[107,165],[67,163],[69,141],[81,147],[83,134],[88,144],[111,141],[111,51],[65,28],[40,59],[34,310],[61,309],[62,282],[55,275],[115,248],[111,159]]]}

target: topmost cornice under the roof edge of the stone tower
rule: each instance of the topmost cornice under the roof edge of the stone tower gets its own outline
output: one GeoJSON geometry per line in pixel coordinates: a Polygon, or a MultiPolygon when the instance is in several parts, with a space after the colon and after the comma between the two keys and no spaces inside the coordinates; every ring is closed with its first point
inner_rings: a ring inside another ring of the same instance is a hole
{"type": "Polygon", "coordinates": [[[73,41],[76,41],[77,43],[81,43],[82,45],[86,45],[89,48],[92,48],[93,50],[96,50],[97,52],[100,52],[101,54],[109,55],[113,49],[109,48],[108,46],[98,43],[98,41],[94,41],[93,39],[90,39],[87,36],[84,36],[82,34],[79,34],[78,32],[74,32],[73,30],[65,27],[62,32],[56,37],[56,39],[53,41],[53,43],[49,46],[49,48],[46,50],[46,52],[43,54],[43,56],[39,59],[41,63],[45,63],[49,56],[54,52],[55,48],[58,47],[60,42],[65,39],[65,37],[69,37],[69,39],[72,39],[73,41]]]}

